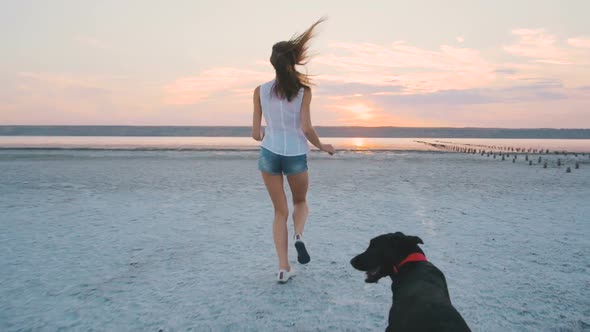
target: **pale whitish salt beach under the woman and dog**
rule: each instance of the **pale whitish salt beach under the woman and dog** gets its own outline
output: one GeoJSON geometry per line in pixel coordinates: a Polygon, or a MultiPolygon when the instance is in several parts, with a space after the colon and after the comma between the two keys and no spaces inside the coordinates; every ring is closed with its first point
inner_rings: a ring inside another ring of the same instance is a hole
{"type": "Polygon", "coordinates": [[[311,153],[280,285],[255,151],[0,150],[0,330],[383,331],[349,260],[402,231],[473,331],[588,331],[590,158],[530,156],[311,153]]]}

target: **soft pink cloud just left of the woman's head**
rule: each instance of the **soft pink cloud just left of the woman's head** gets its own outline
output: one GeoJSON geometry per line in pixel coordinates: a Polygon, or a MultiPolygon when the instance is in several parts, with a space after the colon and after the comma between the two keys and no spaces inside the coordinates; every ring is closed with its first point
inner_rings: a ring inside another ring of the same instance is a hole
{"type": "Polygon", "coordinates": [[[224,90],[234,90],[238,95],[243,95],[246,87],[254,91],[255,84],[271,78],[270,72],[232,67],[211,68],[199,76],[182,77],[165,86],[165,101],[173,105],[190,105],[224,90]]]}

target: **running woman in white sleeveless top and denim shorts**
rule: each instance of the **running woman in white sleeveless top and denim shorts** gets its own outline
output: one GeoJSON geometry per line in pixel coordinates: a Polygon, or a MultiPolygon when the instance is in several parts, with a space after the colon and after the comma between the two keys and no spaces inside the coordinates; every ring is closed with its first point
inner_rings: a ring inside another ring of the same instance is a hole
{"type": "Polygon", "coordinates": [[[295,65],[306,63],[307,43],[313,37],[314,28],[323,21],[320,19],[298,37],[276,43],[270,56],[275,79],[254,90],[252,138],[262,141],[258,169],[275,210],[273,238],[279,257],[277,279],[280,283],[287,282],[294,274],[288,259],[289,209],[283,190],[283,174],[287,176],[293,196],[297,261],[307,264],[310,257],[303,241],[308,214],[307,140],[330,155],[335,152],[332,145],[320,142],[311,124],[311,84],[307,75],[295,69],[295,65]],[[264,133],[260,128],[263,115],[267,125],[264,133]]]}

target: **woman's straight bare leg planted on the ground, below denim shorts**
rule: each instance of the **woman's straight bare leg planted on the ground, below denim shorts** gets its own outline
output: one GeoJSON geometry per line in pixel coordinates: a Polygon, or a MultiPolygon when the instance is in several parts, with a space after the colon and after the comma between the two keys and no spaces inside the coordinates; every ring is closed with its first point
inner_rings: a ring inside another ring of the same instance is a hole
{"type": "Polygon", "coordinates": [[[287,197],[283,189],[283,175],[272,175],[262,172],[262,178],[266,185],[266,190],[270,195],[272,204],[275,209],[275,218],[272,224],[272,234],[275,241],[277,256],[279,257],[279,269],[291,270],[289,266],[288,253],[288,231],[287,219],[289,218],[289,206],[287,197]]]}

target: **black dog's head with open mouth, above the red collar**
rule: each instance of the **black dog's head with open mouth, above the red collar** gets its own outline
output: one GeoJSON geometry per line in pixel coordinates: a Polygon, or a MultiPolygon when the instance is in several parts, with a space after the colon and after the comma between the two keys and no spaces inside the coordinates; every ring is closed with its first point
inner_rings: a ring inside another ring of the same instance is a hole
{"type": "Polygon", "coordinates": [[[365,282],[375,283],[383,277],[393,276],[393,267],[408,255],[423,254],[418,247],[418,244],[423,243],[419,237],[402,232],[379,235],[371,240],[365,252],[350,260],[350,264],[355,269],[366,272],[365,282]]]}

